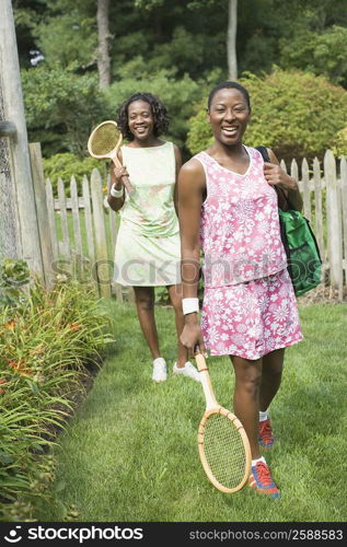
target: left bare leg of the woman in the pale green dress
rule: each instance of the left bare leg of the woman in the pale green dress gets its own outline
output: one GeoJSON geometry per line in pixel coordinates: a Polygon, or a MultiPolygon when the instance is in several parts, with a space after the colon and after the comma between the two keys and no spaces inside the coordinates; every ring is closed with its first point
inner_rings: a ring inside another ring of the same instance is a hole
{"type": "Polygon", "coordinates": [[[154,317],[154,288],[134,287],[135,302],[140,326],[153,359],[160,357],[154,317]]]}

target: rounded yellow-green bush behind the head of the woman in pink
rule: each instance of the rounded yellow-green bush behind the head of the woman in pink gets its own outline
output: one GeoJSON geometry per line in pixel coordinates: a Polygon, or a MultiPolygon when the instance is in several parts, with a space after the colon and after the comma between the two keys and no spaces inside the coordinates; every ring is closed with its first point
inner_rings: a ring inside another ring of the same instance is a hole
{"type": "MultiPolygon", "coordinates": [[[[245,135],[248,146],[273,148],[286,161],[314,155],[322,159],[325,150],[334,147],[347,114],[343,88],[309,72],[278,68],[265,77],[246,73],[239,81],[252,101],[252,120],[245,135]]],[[[187,143],[192,153],[212,142],[206,104],[200,103],[189,120],[187,143]]]]}

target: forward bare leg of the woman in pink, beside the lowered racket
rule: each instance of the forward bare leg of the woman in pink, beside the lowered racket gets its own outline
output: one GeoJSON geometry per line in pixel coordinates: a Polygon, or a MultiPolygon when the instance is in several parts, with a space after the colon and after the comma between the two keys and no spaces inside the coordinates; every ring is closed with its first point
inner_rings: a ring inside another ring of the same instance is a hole
{"type": "Polygon", "coordinates": [[[259,389],[262,383],[262,359],[251,361],[231,356],[235,371],[233,408],[247,434],[252,459],[261,457],[258,445],[259,389]]]}

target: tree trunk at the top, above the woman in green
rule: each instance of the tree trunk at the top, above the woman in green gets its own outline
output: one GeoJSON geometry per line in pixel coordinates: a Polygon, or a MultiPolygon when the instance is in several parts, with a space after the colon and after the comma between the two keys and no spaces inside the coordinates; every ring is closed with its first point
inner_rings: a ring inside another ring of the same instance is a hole
{"type": "Polygon", "coordinates": [[[99,86],[104,90],[109,85],[109,27],[108,27],[108,8],[109,0],[97,0],[97,70],[99,70],[99,86]]]}

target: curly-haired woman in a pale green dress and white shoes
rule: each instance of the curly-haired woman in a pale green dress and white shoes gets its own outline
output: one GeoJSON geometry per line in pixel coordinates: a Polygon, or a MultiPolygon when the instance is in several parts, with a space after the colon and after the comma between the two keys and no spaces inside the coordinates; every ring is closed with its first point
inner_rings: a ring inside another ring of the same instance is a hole
{"type": "Polygon", "coordinates": [[[117,123],[127,143],[118,154],[123,167],[112,168],[107,196],[109,207],[120,212],[114,281],[134,288],[139,323],[153,358],[154,382],[167,377],[159,347],[154,288],[167,288],[178,340],[173,373],[199,382],[198,372],[180,342],[184,326],[176,195],[181,152],[172,142],[160,139],[167,130],[167,112],[151,93],[136,93],[127,98],[119,108],[117,123]],[[125,190],[124,177],[135,188],[130,195],[125,190]]]}

